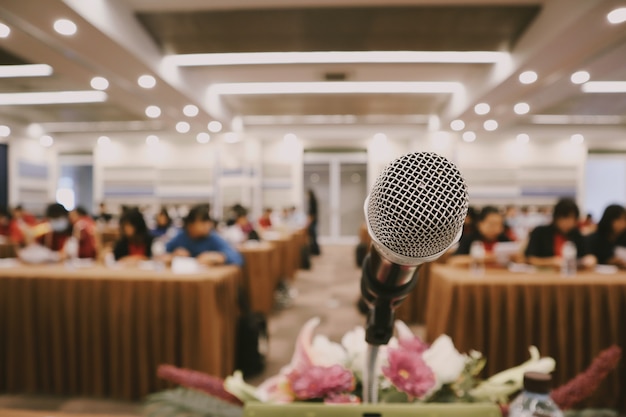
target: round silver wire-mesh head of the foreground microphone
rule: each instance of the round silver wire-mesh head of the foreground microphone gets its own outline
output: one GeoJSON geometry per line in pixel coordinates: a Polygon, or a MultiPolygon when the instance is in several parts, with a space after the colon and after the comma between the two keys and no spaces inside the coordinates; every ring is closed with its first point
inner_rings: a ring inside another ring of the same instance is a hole
{"type": "Polygon", "coordinates": [[[367,221],[375,241],[407,258],[441,254],[455,243],[468,208],[457,167],[430,152],[404,155],[378,176],[367,221]]]}

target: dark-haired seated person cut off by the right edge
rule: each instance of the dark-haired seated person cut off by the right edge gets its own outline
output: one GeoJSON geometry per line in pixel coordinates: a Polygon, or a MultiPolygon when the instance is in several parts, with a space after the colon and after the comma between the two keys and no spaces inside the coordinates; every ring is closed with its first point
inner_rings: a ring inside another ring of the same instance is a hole
{"type": "Polygon", "coordinates": [[[624,232],[626,232],[626,209],[617,204],[610,205],[604,210],[597,230],[587,236],[587,249],[595,255],[599,264],[626,268],[626,260],[615,256],[617,246],[626,246],[624,232]]]}

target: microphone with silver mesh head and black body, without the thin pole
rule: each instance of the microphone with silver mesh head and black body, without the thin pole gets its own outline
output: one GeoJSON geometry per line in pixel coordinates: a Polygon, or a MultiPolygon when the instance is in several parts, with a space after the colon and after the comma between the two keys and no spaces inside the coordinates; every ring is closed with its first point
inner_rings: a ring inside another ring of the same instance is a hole
{"type": "Polygon", "coordinates": [[[361,296],[369,307],[368,344],[389,342],[394,311],[415,287],[419,266],[458,242],[467,208],[461,173],[435,153],[404,155],[378,176],[364,205],[372,238],[361,278],[361,296]]]}

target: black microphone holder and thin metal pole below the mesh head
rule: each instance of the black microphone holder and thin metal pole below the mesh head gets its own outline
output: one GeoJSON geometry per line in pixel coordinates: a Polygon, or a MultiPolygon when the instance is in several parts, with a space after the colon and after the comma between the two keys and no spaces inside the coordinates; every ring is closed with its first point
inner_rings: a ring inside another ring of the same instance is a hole
{"type": "Polygon", "coordinates": [[[368,343],[366,366],[363,370],[363,402],[378,402],[376,363],[381,345],[393,335],[395,309],[415,288],[419,266],[394,264],[370,251],[363,261],[361,295],[367,305],[365,341],[368,343]]]}

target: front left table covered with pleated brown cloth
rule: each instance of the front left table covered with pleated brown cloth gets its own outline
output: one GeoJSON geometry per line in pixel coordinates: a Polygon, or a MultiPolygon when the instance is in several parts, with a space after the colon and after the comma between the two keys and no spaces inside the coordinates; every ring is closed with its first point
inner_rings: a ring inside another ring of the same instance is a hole
{"type": "Polygon", "coordinates": [[[0,269],[0,392],[138,399],[160,364],[233,372],[241,270],[0,269]]]}

